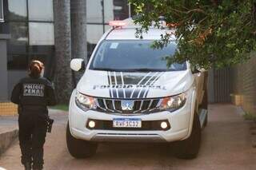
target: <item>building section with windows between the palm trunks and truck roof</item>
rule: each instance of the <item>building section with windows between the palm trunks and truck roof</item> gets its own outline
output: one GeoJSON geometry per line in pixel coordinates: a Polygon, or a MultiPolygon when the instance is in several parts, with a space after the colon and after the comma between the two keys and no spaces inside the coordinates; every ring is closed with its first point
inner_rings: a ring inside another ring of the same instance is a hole
{"type": "Polygon", "coordinates": [[[86,0],[88,57],[98,40],[111,28],[108,22],[130,17],[128,0],[86,0]]]}

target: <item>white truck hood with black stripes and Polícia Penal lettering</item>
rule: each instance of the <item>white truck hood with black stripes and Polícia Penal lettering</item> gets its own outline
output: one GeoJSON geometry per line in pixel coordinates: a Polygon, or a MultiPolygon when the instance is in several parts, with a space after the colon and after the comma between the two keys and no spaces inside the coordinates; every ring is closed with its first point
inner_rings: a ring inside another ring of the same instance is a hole
{"type": "Polygon", "coordinates": [[[92,97],[154,98],[183,93],[193,82],[190,70],[127,73],[88,69],[78,82],[77,90],[92,97]]]}

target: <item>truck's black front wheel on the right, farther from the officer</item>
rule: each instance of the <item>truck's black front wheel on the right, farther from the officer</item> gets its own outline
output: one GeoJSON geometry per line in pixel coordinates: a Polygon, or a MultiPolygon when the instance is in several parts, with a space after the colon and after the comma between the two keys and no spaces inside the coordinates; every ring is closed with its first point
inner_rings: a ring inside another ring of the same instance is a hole
{"type": "Polygon", "coordinates": [[[194,114],[194,122],[190,137],[186,140],[174,142],[174,154],[178,158],[193,159],[198,156],[201,144],[201,126],[198,114],[194,114]]]}

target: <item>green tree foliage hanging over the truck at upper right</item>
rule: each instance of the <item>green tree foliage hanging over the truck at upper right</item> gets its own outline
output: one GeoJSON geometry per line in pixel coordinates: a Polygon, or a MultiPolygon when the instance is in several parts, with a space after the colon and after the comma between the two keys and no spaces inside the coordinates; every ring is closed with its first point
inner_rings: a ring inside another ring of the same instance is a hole
{"type": "MultiPolygon", "coordinates": [[[[256,0],[130,0],[138,14],[142,36],[152,23],[162,29],[164,16],[170,29],[176,30],[178,51],[167,57],[169,63],[190,61],[194,66],[225,67],[246,61],[256,50],[256,0]]],[[[154,42],[161,48],[170,42],[170,34],[154,42]]]]}

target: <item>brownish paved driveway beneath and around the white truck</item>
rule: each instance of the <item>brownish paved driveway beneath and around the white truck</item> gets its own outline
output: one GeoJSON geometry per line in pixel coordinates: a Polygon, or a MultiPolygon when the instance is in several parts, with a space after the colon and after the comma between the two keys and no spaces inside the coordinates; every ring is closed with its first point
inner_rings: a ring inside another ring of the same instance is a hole
{"type": "MultiPolygon", "coordinates": [[[[65,113],[54,113],[56,124],[45,144],[45,169],[256,169],[249,123],[232,105],[210,105],[209,123],[202,132],[197,159],[179,160],[157,144],[102,144],[97,155],[75,160],[66,149],[65,113]]],[[[0,167],[23,169],[18,141],[2,156],[0,167]]]]}

